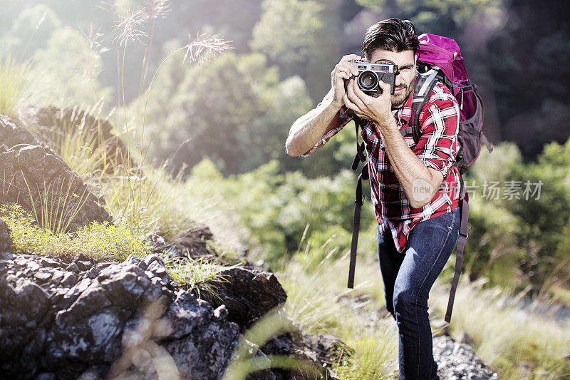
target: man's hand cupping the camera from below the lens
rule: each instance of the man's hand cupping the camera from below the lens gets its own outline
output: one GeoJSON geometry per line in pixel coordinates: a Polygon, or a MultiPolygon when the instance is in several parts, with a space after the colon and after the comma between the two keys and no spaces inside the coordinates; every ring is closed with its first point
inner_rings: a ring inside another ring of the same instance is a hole
{"type": "Polygon", "coordinates": [[[348,91],[343,96],[346,107],[360,117],[372,120],[382,128],[393,119],[390,85],[383,81],[379,83],[382,93],[378,97],[368,96],[358,87],[354,79],[348,82],[348,91]]]}

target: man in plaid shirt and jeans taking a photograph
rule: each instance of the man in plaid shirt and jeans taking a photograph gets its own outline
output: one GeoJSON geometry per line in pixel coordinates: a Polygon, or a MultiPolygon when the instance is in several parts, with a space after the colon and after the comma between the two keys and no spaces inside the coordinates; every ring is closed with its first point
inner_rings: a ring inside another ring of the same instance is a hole
{"type": "Polygon", "coordinates": [[[439,379],[433,360],[427,298],[459,236],[459,106],[438,83],[420,113],[420,140],[400,129],[410,123],[416,51],[410,21],[387,19],[368,28],[366,61],[395,63],[395,93],[380,82],[380,96],[368,96],[351,78],[358,76],[343,56],[331,73],[331,91],[291,126],[287,153],[306,157],[353,118],[363,118],[361,135],[368,156],[371,198],[378,222],[378,260],[386,308],[398,324],[398,379],[439,379]],[[344,81],[349,80],[345,90],[344,81]]]}

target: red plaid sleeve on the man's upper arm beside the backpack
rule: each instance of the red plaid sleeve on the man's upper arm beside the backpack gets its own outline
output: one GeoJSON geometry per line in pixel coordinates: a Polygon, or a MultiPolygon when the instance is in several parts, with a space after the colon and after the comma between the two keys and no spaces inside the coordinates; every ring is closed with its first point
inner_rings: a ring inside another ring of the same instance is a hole
{"type": "Polygon", "coordinates": [[[424,109],[420,117],[420,140],[413,151],[427,168],[440,171],[445,178],[459,150],[459,106],[451,93],[444,90],[435,94],[424,109]]]}

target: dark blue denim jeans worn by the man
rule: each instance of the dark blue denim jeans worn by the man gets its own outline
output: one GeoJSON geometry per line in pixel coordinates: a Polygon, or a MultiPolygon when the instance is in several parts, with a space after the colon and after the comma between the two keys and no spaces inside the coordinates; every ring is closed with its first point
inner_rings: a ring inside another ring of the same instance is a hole
{"type": "Polygon", "coordinates": [[[398,324],[398,380],[438,379],[433,360],[427,298],[449,259],[461,222],[460,207],[415,225],[405,252],[398,253],[389,228],[377,227],[378,261],[386,309],[398,324]]]}

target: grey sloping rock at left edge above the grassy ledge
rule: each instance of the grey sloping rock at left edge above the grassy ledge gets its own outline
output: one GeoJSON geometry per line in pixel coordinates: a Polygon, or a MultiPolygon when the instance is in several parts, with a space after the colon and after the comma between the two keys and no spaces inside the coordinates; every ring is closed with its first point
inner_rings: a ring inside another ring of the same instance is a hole
{"type": "Polygon", "coordinates": [[[0,115],[0,141],[0,203],[18,203],[38,219],[61,219],[71,228],[110,220],[104,200],[19,120],[0,115]]]}

